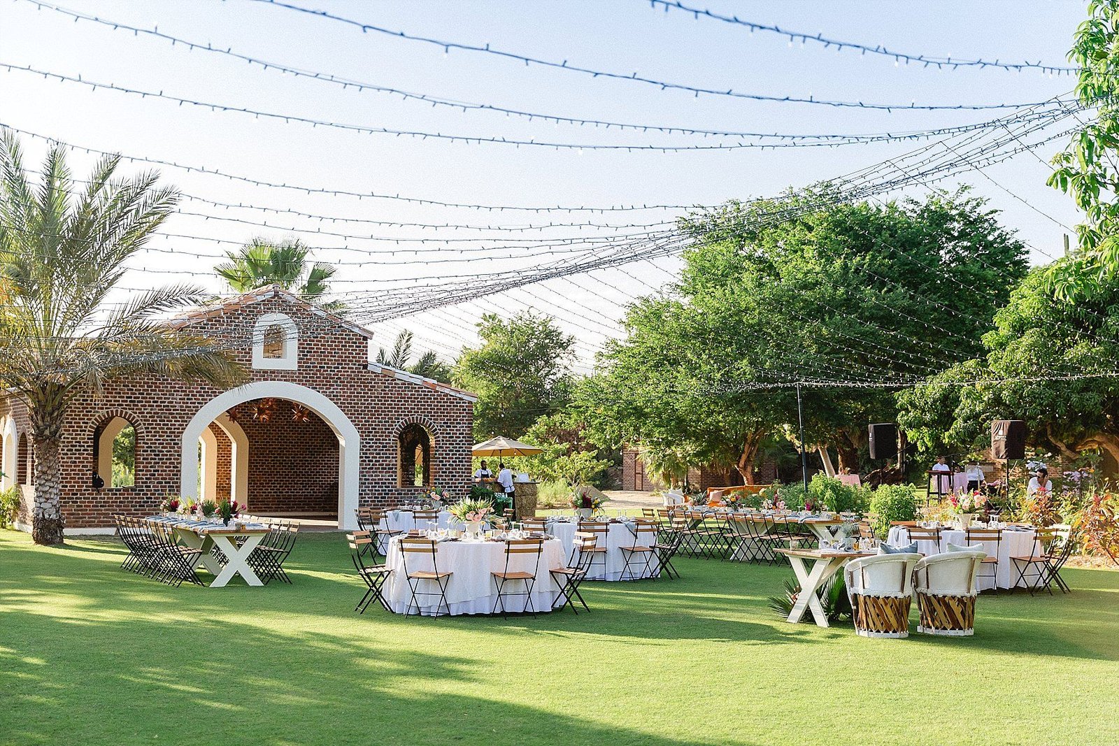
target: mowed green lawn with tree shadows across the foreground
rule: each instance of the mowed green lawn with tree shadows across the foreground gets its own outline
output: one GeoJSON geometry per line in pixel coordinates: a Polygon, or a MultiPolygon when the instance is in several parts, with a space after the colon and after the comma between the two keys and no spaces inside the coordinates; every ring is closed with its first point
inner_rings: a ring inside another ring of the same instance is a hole
{"type": "Polygon", "coordinates": [[[338,533],[300,536],[293,586],[170,588],[122,557],[0,530],[0,743],[1119,743],[1115,572],[982,596],[970,639],[865,640],[778,620],[780,567],[685,559],[506,621],[354,614],[338,533]]]}

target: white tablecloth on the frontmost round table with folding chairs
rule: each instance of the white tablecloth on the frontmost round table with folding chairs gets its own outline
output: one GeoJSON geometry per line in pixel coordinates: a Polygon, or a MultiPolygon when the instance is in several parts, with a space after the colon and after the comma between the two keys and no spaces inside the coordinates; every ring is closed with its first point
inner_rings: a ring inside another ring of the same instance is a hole
{"type": "MultiPolygon", "coordinates": [[[[492,613],[493,604],[497,603],[497,585],[491,573],[506,569],[505,542],[441,541],[435,551],[439,572],[452,573],[444,580],[446,583],[446,603],[451,614],[492,613]]],[[[432,569],[431,555],[408,553],[407,561],[408,569],[412,572],[432,569]]],[[[513,555],[509,569],[533,572],[535,563],[536,555],[513,555]]],[[[412,589],[404,575],[404,558],[398,540],[393,540],[389,545],[385,565],[393,569],[392,575],[385,582],[385,599],[388,602],[389,608],[397,614],[403,614],[407,611],[412,589]]],[[[561,542],[556,539],[545,541],[539,567],[536,568],[536,583],[532,595],[533,608],[536,613],[552,611],[560,594],[560,586],[548,570],[564,565],[566,561],[561,542]]],[[[419,591],[439,593],[439,586],[434,580],[419,580],[417,583],[419,591]]],[[[525,596],[510,597],[508,595],[509,593],[524,593],[524,591],[525,585],[520,580],[506,582],[505,607],[507,611],[520,612],[526,607],[528,599],[525,596]]],[[[445,612],[438,595],[417,595],[416,605],[420,607],[420,613],[426,615],[435,614],[436,606],[440,606],[441,612],[445,612]]],[[[415,607],[412,607],[412,613],[416,613],[415,607]]]]}

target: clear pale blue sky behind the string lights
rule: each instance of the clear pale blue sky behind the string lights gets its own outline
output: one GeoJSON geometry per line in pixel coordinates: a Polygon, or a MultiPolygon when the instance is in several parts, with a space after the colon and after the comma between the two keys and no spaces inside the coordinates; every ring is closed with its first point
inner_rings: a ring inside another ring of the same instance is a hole
{"type": "MultiPolygon", "coordinates": [[[[793,44],[731,23],[665,12],[643,0],[599,2],[385,2],[291,0],[412,35],[490,45],[540,59],[695,87],[777,96],[908,104],[991,104],[1044,101],[1069,92],[1070,76],[1036,70],[935,69],[895,65],[880,55],[793,44]]],[[[603,121],[692,129],[789,134],[878,133],[950,126],[994,119],[999,111],[883,112],[796,103],[761,103],[726,96],[696,97],[636,82],[526,66],[489,54],[442,48],[361,34],[359,29],[251,0],[79,2],[65,9],[154,28],[234,53],[363,83],[470,103],[603,121]]],[[[688,4],[685,2],[685,4],[688,4]]],[[[910,54],[1065,65],[1081,2],[731,2],[697,0],[760,23],[910,54]]],[[[0,64],[26,66],[83,81],[233,107],[393,130],[564,143],[709,144],[695,135],[617,131],[528,121],[485,111],[432,106],[398,95],[359,92],[284,75],[226,55],[135,36],[88,21],[74,22],[27,0],[0,3],[0,64]]],[[[252,115],[178,105],[76,83],[0,69],[0,122],[62,141],[253,179],[341,191],[402,195],[446,202],[502,206],[714,205],[731,198],[775,195],[788,187],[836,177],[895,157],[913,143],[854,144],[836,149],[741,149],[695,152],[554,150],[508,144],[448,142],[342,131],[252,115]]],[[[26,140],[30,160],[44,143],[26,140]]],[[[1047,160],[1061,142],[1038,152],[1047,160]]],[[[91,159],[75,157],[76,171],[91,159]]],[[[149,168],[129,163],[126,170],[149,168]]],[[[471,226],[514,226],[591,220],[652,224],[679,211],[604,215],[495,213],[396,200],[361,199],[262,188],[176,168],[166,180],[192,197],[332,218],[471,226]]],[[[1061,252],[1064,226],[1078,215],[1071,201],[1045,186],[1047,167],[1029,153],[940,186],[971,183],[1003,210],[1002,219],[1034,252],[1035,263],[1061,252]],[[994,183],[993,183],[994,181],[994,183]],[[999,186],[996,186],[999,185],[999,186]],[[1009,193],[1008,191],[1009,190],[1009,193]]],[[[921,196],[921,189],[910,193],[921,196]]],[[[351,302],[415,277],[519,270],[562,254],[545,254],[526,238],[626,234],[642,229],[554,228],[529,234],[421,229],[322,221],[298,215],[219,208],[185,200],[184,213],[152,242],[159,251],[133,263],[126,287],[171,281],[220,290],[211,267],[219,255],[254,235],[298,235],[319,247],[316,257],[339,262],[338,289],[351,302]],[[216,220],[215,216],[242,221],[216,220]],[[269,223],[269,227],[244,221],[269,223]],[[318,233],[309,233],[318,232],[318,233]],[[326,235],[326,233],[346,235],[326,235]],[[359,238],[357,235],[366,236],[359,238]],[[404,243],[370,238],[487,238],[488,243],[404,243]],[[231,242],[231,243],[222,243],[231,242]],[[485,251],[461,252],[467,246],[485,251]],[[535,248],[526,248],[533,247],[535,248]],[[411,249],[420,248],[419,253],[411,249]],[[168,253],[175,249],[176,253],[168,253]],[[436,251],[438,249],[438,251],[436,251]],[[433,261],[440,259],[440,261],[433,261]],[[365,264],[357,264],[365,262],[365,264]],[[377,264],[374,264],[377,262],[377,264]],[[386,264],[387,263],[387,264],[386,264]]],[[[580,370],[602,340],[617,333],[622,304],[669,280],[673,258],[637,262],[495,295],[479,282],[479,300],[374,330],[388,346],[401,328],[421,347],[452,357],[476,339],[482,312],[533,308],[555,314],[579,337],[580,370]]]]}

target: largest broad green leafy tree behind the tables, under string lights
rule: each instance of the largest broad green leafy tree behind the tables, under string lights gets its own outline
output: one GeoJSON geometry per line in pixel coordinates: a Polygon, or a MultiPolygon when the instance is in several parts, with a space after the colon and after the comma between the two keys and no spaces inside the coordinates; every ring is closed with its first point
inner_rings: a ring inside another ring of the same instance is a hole
{"type": "Polygon", "coordinates": [[[764,437],[796,434],[790,385],[809,381],[808,444],[834,445],[857,472],[866,423],[894,418],[893,395],[811,381],[923,378],[949,353],[977,353],[1025,251],[966,192],[840,199],[824,185],[690,218],[680,282],[634,304],[604,353],[595,427],[749,482],[764,437]]]}

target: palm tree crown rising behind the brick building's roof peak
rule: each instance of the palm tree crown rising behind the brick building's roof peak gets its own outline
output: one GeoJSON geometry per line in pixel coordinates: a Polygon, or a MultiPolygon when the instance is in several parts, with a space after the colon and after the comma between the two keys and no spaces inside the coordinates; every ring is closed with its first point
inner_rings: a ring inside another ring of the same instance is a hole
{"type": "MultiPolygon", "coordinates": [[[[307,301],[318,302],[326,295],[335,267],[322,262],[308,266],[311,249],[298,238],[288,238],[279,244],[265,238],[251,242],[229,252],[225,264],[214,267],[235,293],[247,293],[263,285],[280,285],[297,293],[307,301]]],[[[331,310],[341,310],[335,301],[325,304],[331,310]]]]}

